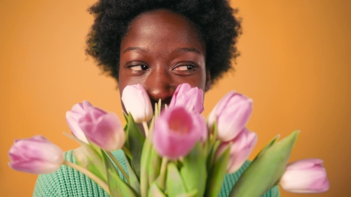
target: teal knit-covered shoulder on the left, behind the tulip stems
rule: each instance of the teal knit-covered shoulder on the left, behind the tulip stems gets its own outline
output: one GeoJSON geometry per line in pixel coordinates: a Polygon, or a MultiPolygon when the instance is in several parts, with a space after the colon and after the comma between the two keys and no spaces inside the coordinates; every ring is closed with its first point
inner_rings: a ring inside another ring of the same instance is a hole
{"type": "MultiPolygon", "coordinates": [[[[121,161],[122,165],[125,163],[122,150],[113,151],[113,156],[121,161]]],[[[76,163],[73,150],[65,152],[64,157],[66,161],[76,163]]],[[[33,196],[108,197],[109,195],[99,185],[85,176],[85,174],[66,165],[62,165],[53,173],[40,174],[38,176],[33,196]]]]}

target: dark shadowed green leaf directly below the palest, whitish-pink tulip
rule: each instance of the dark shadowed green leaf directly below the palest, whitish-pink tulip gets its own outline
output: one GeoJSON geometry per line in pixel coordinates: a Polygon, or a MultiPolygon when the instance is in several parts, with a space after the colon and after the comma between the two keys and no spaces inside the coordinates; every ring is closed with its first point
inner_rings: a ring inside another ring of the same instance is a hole
{"type": "Polygon", "coordinates": [[[127,148],[130,151],[130,164],[133,168],[138,179],[140,178],[140,159],[142,154],[142,148],[144,145],[145,137],[141,133],[138,125],[134,122],[133,117],[129,114],[127,119],[127,130],[128,133],[127,148]]]}

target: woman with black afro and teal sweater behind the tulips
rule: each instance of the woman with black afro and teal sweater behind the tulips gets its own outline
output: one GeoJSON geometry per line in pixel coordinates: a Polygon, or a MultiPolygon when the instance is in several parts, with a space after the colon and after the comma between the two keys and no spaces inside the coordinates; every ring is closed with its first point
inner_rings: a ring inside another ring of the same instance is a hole
{"type": "MultiPolygon", "coordinates": [[[[101,0],[90,8],[95,21],[87,39],[87,53],[118,81],[140,83],[151,102],[169,104],[175,88],[189,83],[203,91],[231,68],[240,20],[227,1],[113,1],[101,0]]],[[[125,166],[123,152],[114,156],[125,166]]],[[[74,161],[72,151],[65,159],[74,161]]],[[[219,196],[248,166],[227,174],[219,196]]],[[[66,166],[42,174],[34,196],[108,196],[93,181],[66,166]]],[[[279,196],[277,187],[264,196],[279,196]]]]}

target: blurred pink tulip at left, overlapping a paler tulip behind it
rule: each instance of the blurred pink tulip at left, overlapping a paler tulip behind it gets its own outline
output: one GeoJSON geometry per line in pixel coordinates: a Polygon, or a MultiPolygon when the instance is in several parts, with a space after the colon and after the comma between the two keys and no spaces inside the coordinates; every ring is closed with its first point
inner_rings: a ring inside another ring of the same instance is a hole
{"type": "Polygon", "coordinates": [[[126,141],[123,126],[117,115],[89,107],[77,123],[85,136],[105,150],[121,148],[126,141]]]}

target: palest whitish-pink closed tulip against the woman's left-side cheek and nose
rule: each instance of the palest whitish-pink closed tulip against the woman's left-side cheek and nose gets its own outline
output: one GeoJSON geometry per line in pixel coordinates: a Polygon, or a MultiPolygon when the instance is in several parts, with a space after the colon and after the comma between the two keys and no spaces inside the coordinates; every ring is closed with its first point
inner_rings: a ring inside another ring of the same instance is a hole
{"type": "Polygon", "coordinates": [[[127,85],[121,99],[127,113],[133,116],[136,123],[151,120],[153,112],[150,98],[141,84],[127,85]]]}

